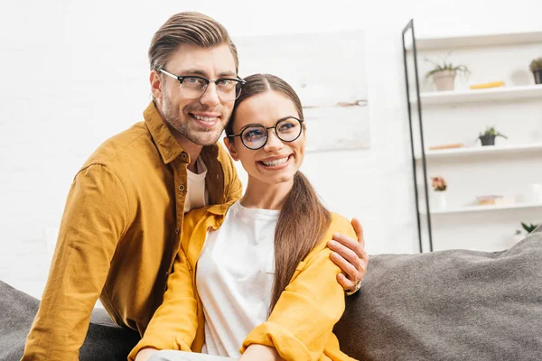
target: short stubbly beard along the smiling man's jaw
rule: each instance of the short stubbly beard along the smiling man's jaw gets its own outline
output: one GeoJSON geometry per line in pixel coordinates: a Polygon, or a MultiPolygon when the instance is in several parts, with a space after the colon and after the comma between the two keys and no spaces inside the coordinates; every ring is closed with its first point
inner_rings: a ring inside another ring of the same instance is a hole
{"type": "Polygon", "coordinates": [[[194,144],[203,146],[217,143],[222,134],[222,129],[220,129],[220,132],[209,128],[191,130],[189,125],[190,120],[186,119],[184,122],[182,121],[182,114],[179,107],[175,106],[165,94],[162,99],[162,113],[167,124],[171,125],[173,129],[194,144]]]}

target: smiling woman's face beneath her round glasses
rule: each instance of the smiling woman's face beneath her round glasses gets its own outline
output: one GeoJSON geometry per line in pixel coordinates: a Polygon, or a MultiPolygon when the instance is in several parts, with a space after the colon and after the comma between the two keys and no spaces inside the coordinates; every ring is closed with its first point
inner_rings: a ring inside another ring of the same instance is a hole
{"type": "MultiPolygon", "coordinates": [[[[294,102],[276,91],[248,97],[238,105],[233,134],[241,133],[248,125],[275,126],[278,120],[289,116],[300,118],[294,102]]],[[[280,128],[284,132],[294,124],[288,122],[280,128]]],[[[291,181],[304,160],[304,131],[296,140],[287,143],[276,136],[273,128],[268,129],[266,145],[257,150],[248,149],[239,136],[227,138],[225,142],[231,157],[240,161],[248,172],[249,182],[251,179],[267,184],[291,181]]]]}

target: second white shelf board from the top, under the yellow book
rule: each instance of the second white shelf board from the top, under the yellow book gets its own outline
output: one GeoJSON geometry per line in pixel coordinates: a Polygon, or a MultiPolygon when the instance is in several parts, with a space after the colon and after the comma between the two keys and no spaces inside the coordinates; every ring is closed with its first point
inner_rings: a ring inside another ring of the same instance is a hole
{"type": "MultiPolygon", "coordinates": [[[[485,89],[467,89],[455,91],[432,91],[421,93],[422,105],[453,104],[466,102],[484,102],[499,100],[540,99],[542,85],[525,85],[516,87],[499,87],[485,89]]],[[[416,98],[412,101],[416,104],[416,98]]]]}

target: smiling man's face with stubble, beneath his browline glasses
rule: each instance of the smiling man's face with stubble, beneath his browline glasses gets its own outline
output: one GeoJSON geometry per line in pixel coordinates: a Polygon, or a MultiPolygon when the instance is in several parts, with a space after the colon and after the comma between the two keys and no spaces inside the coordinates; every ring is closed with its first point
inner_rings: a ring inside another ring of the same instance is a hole
{"type": "MultiPolygon", "coordinates": [[[[208,49],[182,44],[164,69],[179,76],[198,75],[211,80],[237,76],[235,60],[227,44],[208,49]]],[[[181,94],[178,80],[162,76],[161,87],[157,92],[155,90],[156,107],[165,122],[183,138],[197,145],[218,141],[234,102],[220,99],[215,84],[210,83],[201,97],[190,99],[181,94]]]]}

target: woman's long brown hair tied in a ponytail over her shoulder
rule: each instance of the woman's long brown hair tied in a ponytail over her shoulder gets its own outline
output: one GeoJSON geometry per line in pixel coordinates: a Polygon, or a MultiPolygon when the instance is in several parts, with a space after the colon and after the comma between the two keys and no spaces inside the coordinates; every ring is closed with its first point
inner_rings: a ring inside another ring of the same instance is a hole
{"type": "MultiPolygon", "coordinates": [[[[303,106],[295,91],[285,80],[270,74],[254,74],[245,79],[242,91],[228,125],[226,135],[233,134],[236,110],[248,97],[276,91],[290,99],[303,119],[303,106]]],[[[281,293],[292,279],[295,267],[320,243],[331,223],[330,212],[323,207],[313,186],[301,171],[294,175],[294,185],[280,211],[275,229],[275,282],[269,313],[275,308],[281,293]]]]}

